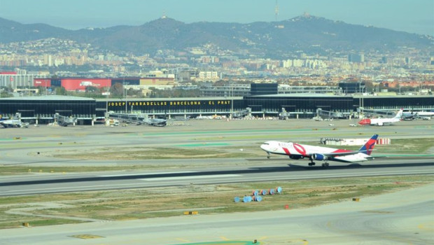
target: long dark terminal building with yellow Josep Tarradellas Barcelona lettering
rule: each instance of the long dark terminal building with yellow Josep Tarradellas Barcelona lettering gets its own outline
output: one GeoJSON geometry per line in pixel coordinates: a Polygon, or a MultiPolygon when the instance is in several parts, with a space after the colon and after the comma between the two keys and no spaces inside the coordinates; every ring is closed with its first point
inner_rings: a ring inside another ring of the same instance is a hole
{"type": "Polygon", "coordinates": [[[338,96],[328,94],[269,94],[245,97],[170,98],[170,99],[90,99],[48,95],[41,97],[0,98],[0,114],[11,118],[20,113],[29,123],[50,123],[53,115],[73,117],[80,125],[104,118],[106,111],[145,113],[156,118],[195,118],[230,116],[238,111],[251,116],[279,116],[286,111],[292,118],[312,118],[318,109],[347,117],[360,108],[369,110],[433,110],[434,96],[338,96]]]}

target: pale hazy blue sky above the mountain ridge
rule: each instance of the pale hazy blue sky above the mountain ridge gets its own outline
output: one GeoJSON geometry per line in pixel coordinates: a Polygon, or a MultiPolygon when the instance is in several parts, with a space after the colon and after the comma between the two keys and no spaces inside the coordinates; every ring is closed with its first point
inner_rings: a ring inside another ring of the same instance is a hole
{"type": "Polygon", "coordinates": [[[163,14],[186,23],[250,23],[287,20],[304,12],[434,36],[434,0],[0,0],[0,18],[66,29],[143,25],[163,14]]]}

